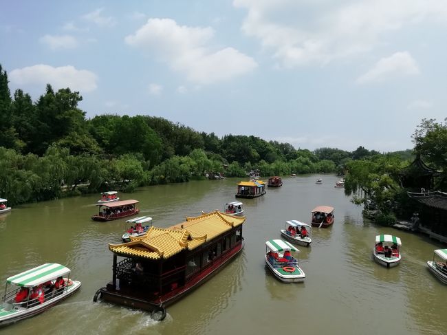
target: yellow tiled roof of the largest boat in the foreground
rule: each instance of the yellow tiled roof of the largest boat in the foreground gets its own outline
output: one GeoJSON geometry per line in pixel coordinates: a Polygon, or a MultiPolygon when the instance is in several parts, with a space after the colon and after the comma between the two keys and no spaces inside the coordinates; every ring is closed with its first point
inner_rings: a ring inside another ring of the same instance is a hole
{"type": "Polygon", "coordinates": [[[206,241],[243,224],[245,217],[236,217],[215,210],[169,228],[151,227],[142,237],[131,237],[124,244],[109,244],[109,250],[122,256],[167,259],[188,248],[193,250],[206,241]]]}

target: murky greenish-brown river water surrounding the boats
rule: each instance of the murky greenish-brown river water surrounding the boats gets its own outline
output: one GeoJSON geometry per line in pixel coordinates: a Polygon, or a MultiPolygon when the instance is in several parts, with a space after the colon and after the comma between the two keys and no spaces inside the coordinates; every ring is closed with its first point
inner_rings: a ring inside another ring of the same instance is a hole
{"type": "MultiPolygon", "coordinates": [[[[168,227],[202,210],[235,201],[240,179],[193,181],[139,188],[140,215],[168,227]]],[[[424,235],[363,219],[334,175],[285,177],[257,199],[242,199],[246,246],[210,281],[168,307],[162,322],[149,313],[93,303],[111,280],[108,242],[119,242],[124,219],[94,223],[98,195],[17,206],[0,215],[0,279],[41,263],[61,263],[82,282],[79,292],[34,318],[0,329],[5,334],[446,334],[447,287],[426,269],[433,250],[424,235]],[[323,184],[315,184],[316,178],[323,184]],[[334,206],[332,227],[312,230],[301,250],[305,283],[285,284],[265,268],[265,241],[280,238],[285,221],[309,221],[317,205],[334,206]],[[386,269],[371,257],[375,235],[402,239],[402,262],[386,269]]]]}

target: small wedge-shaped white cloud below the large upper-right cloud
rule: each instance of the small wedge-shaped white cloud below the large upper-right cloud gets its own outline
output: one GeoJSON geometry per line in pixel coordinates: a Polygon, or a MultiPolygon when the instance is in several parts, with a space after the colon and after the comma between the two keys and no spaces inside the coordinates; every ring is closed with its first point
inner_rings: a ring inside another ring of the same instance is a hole
{"type": "Polygon", "coordinates": [[[357,83],[383,81],[394,76],[414,76],[419,74],[417,64],[408,52],[396,52],[381,58],[372,69],[357,79],[357,83]]]}

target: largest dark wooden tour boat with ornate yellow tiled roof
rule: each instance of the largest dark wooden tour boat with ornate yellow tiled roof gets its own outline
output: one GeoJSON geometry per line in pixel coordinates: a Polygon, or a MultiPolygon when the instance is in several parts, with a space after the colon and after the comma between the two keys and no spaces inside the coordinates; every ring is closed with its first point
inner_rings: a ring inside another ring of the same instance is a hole
{"type": "Polygon", "coordinates": [[[109,244],[112,279],[94,301],[127,305],[166,316],[171,305],[210,278],[243,250],[245,217],[215,210],[169,228],[149,228],[143,237],[109,244]]]}

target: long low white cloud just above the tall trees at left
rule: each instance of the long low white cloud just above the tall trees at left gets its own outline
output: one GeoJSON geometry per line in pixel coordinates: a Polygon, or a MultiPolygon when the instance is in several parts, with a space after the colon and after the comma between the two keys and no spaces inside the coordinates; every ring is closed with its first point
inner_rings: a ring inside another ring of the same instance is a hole
{"type": "Polygon", "coordinates": [[[16,85],[46,85],[51,84],[54,89],[69,87],[73,91],[87,93],[97,87],[97,76],[85,69],[78,70],[71,65],[52,67],[38,64],[23,69],[13,69],[8,77],[16,85]]]}

